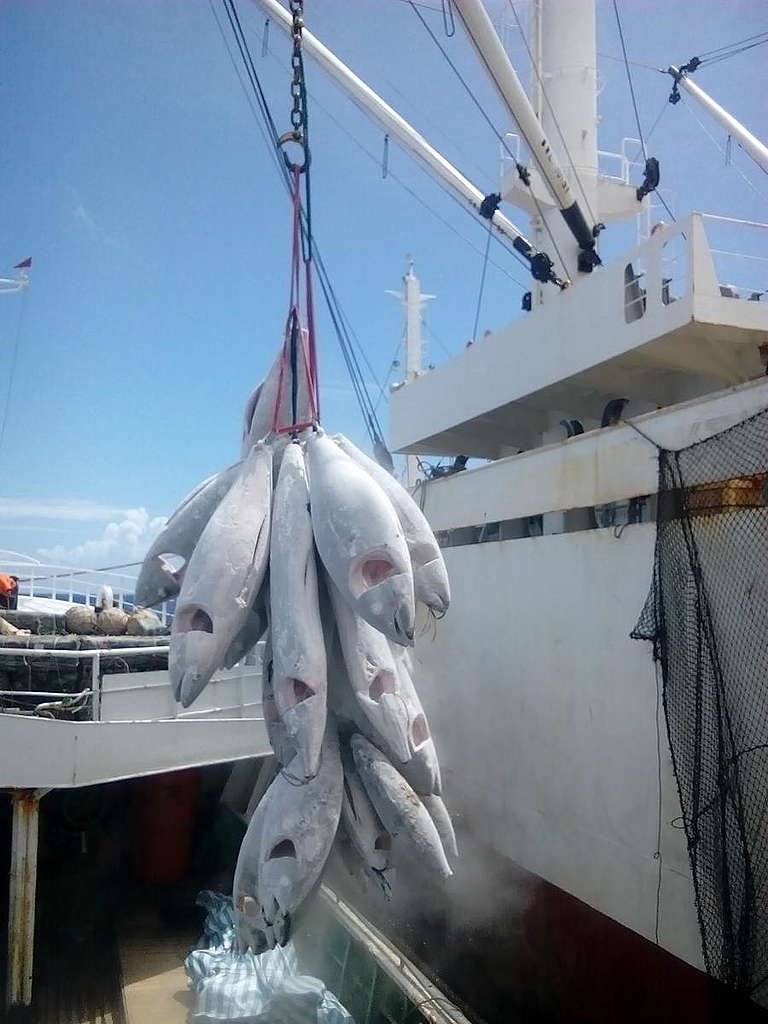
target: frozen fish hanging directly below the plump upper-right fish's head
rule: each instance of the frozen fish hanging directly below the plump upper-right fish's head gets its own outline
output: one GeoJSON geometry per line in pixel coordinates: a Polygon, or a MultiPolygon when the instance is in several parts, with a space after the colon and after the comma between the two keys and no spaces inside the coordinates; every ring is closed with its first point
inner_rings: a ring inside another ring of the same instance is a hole
{"type": "Polygon", "coordinates": [[[408,706],[400,694],[399,675],[387,639],[355,613],[333,580],[327,582],[346,669],[345,674],[338,673],[337,685],[348,681],[354,701],[376,734],[384,739],[395,760],[408,761],[408,706]]]}

